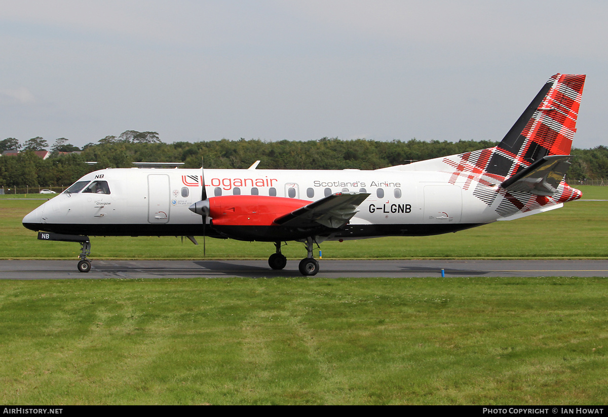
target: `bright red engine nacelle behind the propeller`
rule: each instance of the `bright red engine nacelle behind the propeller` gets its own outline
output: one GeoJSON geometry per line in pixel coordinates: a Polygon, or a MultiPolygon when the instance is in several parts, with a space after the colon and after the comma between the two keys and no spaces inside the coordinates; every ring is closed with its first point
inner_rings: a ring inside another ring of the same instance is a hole
{"type": "Polygon", "coordinates": [[[312,201],[270,196],[218,196],[209,198],[213,226],[272,226],[274,219],[312,201]]]}

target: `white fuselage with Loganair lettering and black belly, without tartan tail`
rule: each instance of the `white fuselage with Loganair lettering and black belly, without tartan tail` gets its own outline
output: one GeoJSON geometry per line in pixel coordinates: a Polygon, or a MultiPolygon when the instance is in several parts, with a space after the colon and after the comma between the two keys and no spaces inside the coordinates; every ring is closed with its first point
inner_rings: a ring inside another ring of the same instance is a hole
{"type": "MultiPolygon", "coordinates": [[[[465,179],[449,182],[451,175],[439,171],[207,169],[204,176],[209,197],[260,195],[317,201],[339,191],[370,193],[350,226],[375,225],[378,235],[437,234],[499,217],[473,196],[473,187],[463,187],[465,179]]],[[[64,192],[27,215],[24,224],[38,225],[35,230],[89,235],[199,234],[201,216],[188,207],[201,199],[201,170],[106,169],[78,181],[106,181],[109,193],[64,192]]],[[[372,236],[376,234],[339,237],[372,236]]]]}

